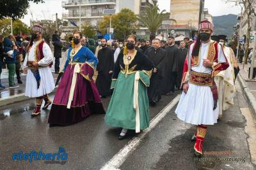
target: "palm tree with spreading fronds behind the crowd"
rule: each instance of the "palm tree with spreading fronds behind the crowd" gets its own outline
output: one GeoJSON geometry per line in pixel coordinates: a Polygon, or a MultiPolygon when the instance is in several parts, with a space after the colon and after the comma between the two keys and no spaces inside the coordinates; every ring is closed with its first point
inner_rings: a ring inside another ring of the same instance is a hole
{"type": "Polygon", "coordinates": [[[160,11],[158,5],[154,3],[145,6],[144,15],[138,15],[138,20],[148,28],[151,32],[150,36],[155,36],[157,30],[161,27],[163,20],[172,20],[176,22],[176,20],[170,19],[169,17],[170,13],[166,13],[166,10],[160,11]]]}

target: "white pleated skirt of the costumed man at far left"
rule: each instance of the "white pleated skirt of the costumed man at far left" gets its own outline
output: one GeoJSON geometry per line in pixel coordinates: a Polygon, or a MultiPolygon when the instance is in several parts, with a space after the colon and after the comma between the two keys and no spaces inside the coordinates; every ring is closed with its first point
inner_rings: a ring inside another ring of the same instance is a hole
{"type": "Polygon", "coordinates": [[[28,74],[26,77],[26,91],[25,96],[28,97],[40,97],[44,96],[45,94],[49,94],[54,90],[54,80],[51,73],[51,69],[49,67],[43,67],[38,69],[40,74],[40,86],[37,89],[37,83],[35,76],[33,73],[28,69],[28,74]]]}

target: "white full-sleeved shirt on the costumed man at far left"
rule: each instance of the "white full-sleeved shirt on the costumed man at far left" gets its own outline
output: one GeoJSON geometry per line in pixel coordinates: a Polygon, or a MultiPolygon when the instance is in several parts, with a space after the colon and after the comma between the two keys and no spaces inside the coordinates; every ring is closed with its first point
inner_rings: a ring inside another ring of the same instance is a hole
{"type": "MultiPolygon", "coordinates": [[[[31,46],[29,52],[26,54],[26,57],[24,59],[23,67],[28,67],[27,66],[28,61],[35,61],[35,47],[40,42],[41,40],[33,42],[33,45],[31,46]]],[[[38,65],[46,67],[52,62],[52,59],[53,59],[51,48],[49,45],[47,45],[47,43],[44,43],[43,45],[43,53],[44,53],[44,58],[38,62],[38,65]]]]}

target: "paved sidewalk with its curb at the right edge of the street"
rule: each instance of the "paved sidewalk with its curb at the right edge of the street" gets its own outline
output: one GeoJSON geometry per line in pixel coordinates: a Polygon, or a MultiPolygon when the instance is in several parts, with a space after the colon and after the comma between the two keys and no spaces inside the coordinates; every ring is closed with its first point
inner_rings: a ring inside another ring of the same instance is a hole
{"type": "Polygon", "coordinates": [[[248,80],[248,73],[250,64],[239,64],[239,74],[237,75],[237,79],[241,83],[241,87],[244,92],[244,96],[246,97],[247,103],[252,110],[254,117],[256,118],[256,80],[253,78],[253,81],[248,80]]]}

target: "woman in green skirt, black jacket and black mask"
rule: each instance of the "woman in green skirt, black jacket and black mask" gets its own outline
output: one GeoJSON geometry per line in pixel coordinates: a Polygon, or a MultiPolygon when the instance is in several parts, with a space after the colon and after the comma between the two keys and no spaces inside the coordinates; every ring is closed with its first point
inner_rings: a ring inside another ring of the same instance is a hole
{"type": "Polygon", "coordinates": [[[128,36],[124,52],[115,62],[105,121],[113,127],[122,127],[119,139],[124,139],[128,129],[140,132],[149,126],[147,87],[153,64],[141,52],[135,50],[136,36],[128,36]]]}

